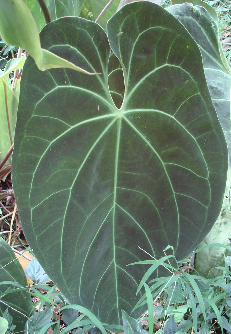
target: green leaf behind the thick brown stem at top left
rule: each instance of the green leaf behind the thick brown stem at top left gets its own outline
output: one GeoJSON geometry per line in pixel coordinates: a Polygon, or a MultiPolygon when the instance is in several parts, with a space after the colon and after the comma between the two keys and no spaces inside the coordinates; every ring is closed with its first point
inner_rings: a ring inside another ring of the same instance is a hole
{"type": "MultiPolygon", "coordinates": [[[[38,0],[23,0],[34,17],[38,31],[45,25],[44,15],[39,6],[38,0]]],[[[79,16],[84,0],[45,0],[51,20],[62,16],[79,16]]]]}

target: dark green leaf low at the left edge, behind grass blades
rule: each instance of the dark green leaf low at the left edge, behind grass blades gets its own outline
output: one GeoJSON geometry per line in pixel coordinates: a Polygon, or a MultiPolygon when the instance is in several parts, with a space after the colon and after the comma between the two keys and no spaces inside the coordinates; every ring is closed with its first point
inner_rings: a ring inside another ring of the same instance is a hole
{"type": "MultiPolygon", "coordinates": [[[[10,245],[1,237],[0,254],[0,282],[16,281],[28,289],[26,276],[18,259],[14,255],[10,245]]],[[[5,292],[8,288],[9,285],[7,284],[1,285],[0,293],[5,292]]],[[[1,300],[8,306],[0,302],[0,315],[2,316],[7,307],[9,307],[8,312],[13,317],[14,325],[16,325],[14,332],[24,330],[24,325],[27,320],[26,317],[29,316],[33,308],[30,295],[25,290],[18,290],[17,292],[4,296],[1,300]],[[21,313],[12,310],[11,307],[21,313]]]]}

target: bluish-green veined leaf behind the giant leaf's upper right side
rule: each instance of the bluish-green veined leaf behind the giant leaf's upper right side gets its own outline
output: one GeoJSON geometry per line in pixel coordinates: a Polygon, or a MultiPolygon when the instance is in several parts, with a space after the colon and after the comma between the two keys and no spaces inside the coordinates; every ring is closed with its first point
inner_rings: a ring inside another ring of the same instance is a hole
{"type": "MultiPolygon", "coordinates": [[[[172,2],[189,1],[172,0],[172,2]]],[[[215,9],[201,0],[190,0],[190,2],[192,4],[176,4],[167,10],[178,18],[200,47],[213,105],[225,132],[231,166],[231,69],[222,50],[215,9]]]]}

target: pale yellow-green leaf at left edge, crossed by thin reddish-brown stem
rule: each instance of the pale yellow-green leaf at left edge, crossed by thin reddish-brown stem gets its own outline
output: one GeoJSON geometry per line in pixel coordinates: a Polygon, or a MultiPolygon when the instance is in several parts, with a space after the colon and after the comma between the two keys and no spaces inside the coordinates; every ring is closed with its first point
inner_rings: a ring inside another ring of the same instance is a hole
{"type": "MultiPolygon", "coordinates": [[[[7,104],[8,104],[8,112],[9,112],[12,136],[14,136],[14,128],[17,116],[19,83],[20,80],[18,80],[17,82],[17,89],[12,91],[6,82],[7,104]]],[[[0,121],[0,161],[1,161],[3,157],[6,155],[9,148],[11,147],[8,123],[7,123],[6,105],[5,105],[5,93],[2,82],[0,82],[0,120],[1,120],[0,121]]],[[[6,165],[10,163],[11,163],[11,157],[7,161],[6,165]]]]}

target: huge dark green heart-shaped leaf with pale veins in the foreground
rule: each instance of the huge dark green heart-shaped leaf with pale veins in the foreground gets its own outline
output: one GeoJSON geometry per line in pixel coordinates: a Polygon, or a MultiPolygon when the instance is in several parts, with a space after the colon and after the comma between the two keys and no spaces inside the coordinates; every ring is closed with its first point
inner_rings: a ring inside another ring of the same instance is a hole
{"type": "MultiPolygon", "coordinates": [[[[199,48],[182,24],[151,2],[108,22],[61,18],[43,47],[101,75],[22,74],[13,184],[27,241],[71,303],[108,323],[135,305],[146,268],[171,244],[185,258],[216,220],[227,146],[199,48]],[[108,87],[110,46],[122,64],[123,104],[108,87]]],[[[139,292],[139,296],[140,297],[139,292]]],[[[132,313],[136,317],[141,312],[132,313]]]]}

